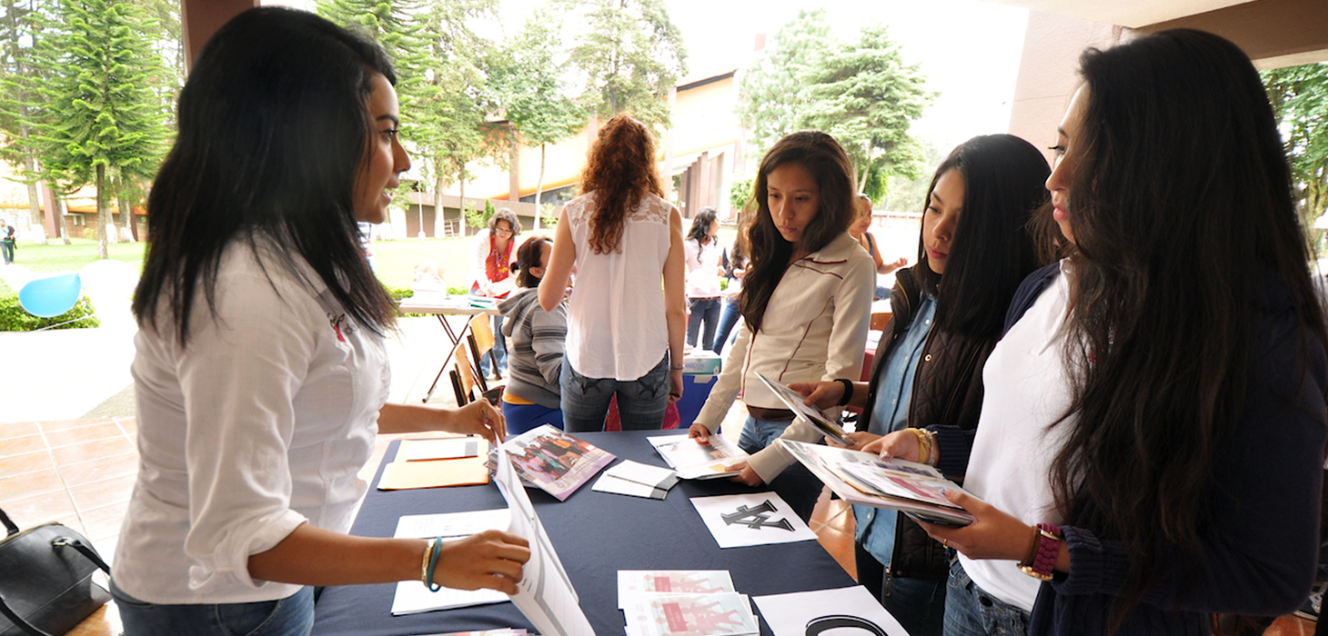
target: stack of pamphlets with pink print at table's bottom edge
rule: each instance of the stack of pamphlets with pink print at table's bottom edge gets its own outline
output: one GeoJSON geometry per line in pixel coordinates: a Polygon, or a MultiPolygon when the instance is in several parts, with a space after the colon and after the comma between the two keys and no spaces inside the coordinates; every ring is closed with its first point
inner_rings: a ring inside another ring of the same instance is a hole
{"type": "Polygon", "coordinates": [[[620,570],[618,607],[627,636],[760,633],[752,600],[722,570],[620,570]]]}

